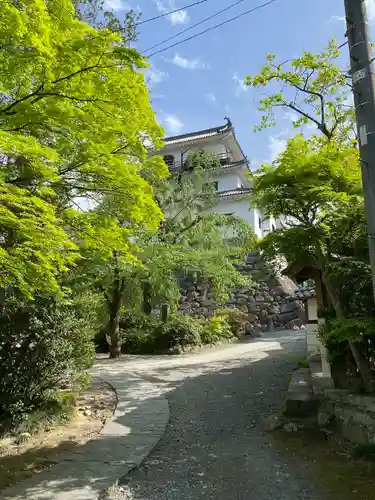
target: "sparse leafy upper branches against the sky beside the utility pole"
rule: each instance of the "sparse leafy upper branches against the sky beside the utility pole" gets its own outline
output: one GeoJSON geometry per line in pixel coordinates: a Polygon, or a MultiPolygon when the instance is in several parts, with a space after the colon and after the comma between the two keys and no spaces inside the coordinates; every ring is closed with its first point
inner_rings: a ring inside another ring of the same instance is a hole
{"type": "Polygon", "coordinates": [[[295,128],[310,124],[328,140],[353,140],[356,126],[348,78],[336,40],[320,53],[304,51],[281,63],[275,54],[268,54],[261,71],[245,79],[249,87],[268,92],[260,99],[262,118],[255,130],[276,125],[277,110],[282,109],[295,113],[295,128]]]}

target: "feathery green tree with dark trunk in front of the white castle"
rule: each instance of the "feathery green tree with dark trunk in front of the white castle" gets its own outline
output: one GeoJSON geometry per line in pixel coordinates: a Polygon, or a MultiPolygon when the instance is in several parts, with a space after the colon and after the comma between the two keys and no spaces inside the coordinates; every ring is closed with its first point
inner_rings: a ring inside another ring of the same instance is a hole
{"type": "MultiPolygon", "coordinates": [[[[97,243],[83,253],[82,272],[75,282],[103,293],[111,357],[121,352],[121,307],[142,307],[146,314],[165,305],[176,308],[179,274],[197,273],[209,280],[221,301],[228,298],[231,287],[244,283],[233,263],[254,248],[254,233],[240,218],[208,212],[216,202],[213,181],[218,164],[207,153],[194,152],[188,164],[193,161],[193,170],[155,182],[155,198],[164,216],[158,227],[140,226],[131,241],[119,237],[116,249],[107,257],[97,243]],[[138,303],[132,301],[135,297],[138,303]]],[[[108,196],[92,217],[103,222],[102,213],[111,210],[113,200],[108,196]]],[[[113,238],[129,231],[120,218],[114,226],[113,238]]],[[[111,247],[115,248],[113,243],[111,247]]]]}

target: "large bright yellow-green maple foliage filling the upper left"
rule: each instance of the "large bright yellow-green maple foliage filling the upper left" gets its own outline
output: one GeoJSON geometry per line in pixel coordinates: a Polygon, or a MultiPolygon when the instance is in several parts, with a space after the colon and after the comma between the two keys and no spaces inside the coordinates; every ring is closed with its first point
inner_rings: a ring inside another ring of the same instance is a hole
{"type": "Polygon", "coordinates": [[[29,296],[56,290],[82,248],[108,258],[119,240],[129,248],[132,228],[162,218],[149,180],[167,169],[146,148],[162,137],[146,61],[109,18],[95,27],[80,17],[70,0],[0,11],[0,285],[29,296]],[[109,195],[115,217],[82,210],[109,195]]]}

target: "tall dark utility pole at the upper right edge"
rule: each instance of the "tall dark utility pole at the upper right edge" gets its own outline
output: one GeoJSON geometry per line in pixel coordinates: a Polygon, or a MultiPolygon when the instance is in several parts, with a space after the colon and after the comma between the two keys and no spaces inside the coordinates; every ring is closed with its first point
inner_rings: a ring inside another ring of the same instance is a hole
{"type": "MultiPolygon", "coordinates": [[[[374,1],[374,0],[370,0],[374,1]]],[[[375,297],[375,79],[365,0],[344,0],[375,297]]]]}

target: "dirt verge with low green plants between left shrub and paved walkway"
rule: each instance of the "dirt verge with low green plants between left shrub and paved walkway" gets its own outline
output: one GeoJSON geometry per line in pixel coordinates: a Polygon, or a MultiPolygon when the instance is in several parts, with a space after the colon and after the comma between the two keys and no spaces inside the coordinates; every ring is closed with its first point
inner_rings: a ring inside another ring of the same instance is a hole
{"type": "Polygon", "coordinates": [[[77,393],[77,400],[71,389],[49,398],[19,423],[17,431],[14,427],[0,438],[0,498],[4,488],[68,459],[101,431],[115,407],[115,392],[100,380],[77,393]]]}

